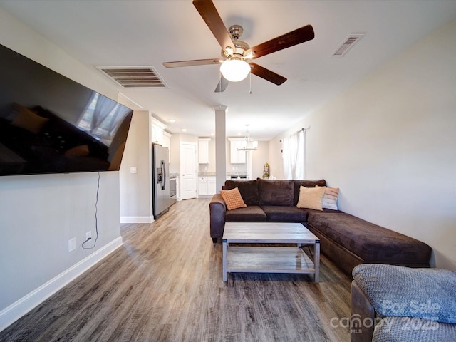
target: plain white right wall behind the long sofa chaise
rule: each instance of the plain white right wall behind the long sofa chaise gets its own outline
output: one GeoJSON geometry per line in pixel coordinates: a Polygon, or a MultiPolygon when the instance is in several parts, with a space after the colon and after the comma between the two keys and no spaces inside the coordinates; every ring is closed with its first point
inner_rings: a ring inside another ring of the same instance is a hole
{"type": "Polygon", "coordinates": [[[452,21],[271,140],[273,167],[279,139],[310,126],[306,178],[340,187],[343,211],[426,242],[438,267],[456,269],[455,56],[452,21]]]}

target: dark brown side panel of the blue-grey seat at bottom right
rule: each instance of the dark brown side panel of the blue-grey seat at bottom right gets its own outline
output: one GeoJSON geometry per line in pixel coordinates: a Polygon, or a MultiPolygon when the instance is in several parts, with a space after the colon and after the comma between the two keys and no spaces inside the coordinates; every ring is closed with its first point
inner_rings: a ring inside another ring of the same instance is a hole
{"type": "Polygon", "coordinates": [[[350,341],[371,342],[375,328],[375,310],[363,290],[351,282],[350,341]]]}

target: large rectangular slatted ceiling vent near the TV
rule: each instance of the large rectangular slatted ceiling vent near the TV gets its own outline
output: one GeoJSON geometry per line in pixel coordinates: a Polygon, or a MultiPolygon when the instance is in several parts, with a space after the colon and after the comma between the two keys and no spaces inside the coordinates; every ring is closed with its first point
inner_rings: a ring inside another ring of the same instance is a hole
{"type": "Polygon", "coordinates": [[[98,66],[123,88],[167,88],[152,66],[98,66]]]}

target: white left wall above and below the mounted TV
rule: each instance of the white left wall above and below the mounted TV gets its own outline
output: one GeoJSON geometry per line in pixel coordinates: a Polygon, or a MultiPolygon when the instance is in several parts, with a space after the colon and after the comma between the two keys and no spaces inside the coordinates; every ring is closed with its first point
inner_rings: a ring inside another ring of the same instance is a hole
{"type": "MultiPolygon", "coordinates": [[[[2,45],[116,98],[114,84],[2,9],[0,32],[2,45]]],[[[88,259],[96,262],[103,257],[101,251],[122,243],[119,175],[100,172],[100,236],[94,249],[81,247],[88,230],[95,238],[97,187],[97,173],[0,177],[0,330],[90,266],[88,259]],[[68,252],[73,237],[76,250],[68,252]]]]}

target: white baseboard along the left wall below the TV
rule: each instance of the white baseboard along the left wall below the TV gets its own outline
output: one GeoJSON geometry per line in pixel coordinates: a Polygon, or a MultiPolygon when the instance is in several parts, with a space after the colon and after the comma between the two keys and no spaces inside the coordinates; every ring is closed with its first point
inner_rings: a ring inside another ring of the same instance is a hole
{"type": "Polygon", "coordinates": [[[19,301],[15,301],[10,306],[1,310],[0,331],[10,326],[12,323],[24,316],[28,311],[31,311],[31,309],[38,306],[38,304],[41,304],[58,290],[62,289],[63,286],[66,286],[73,279],[76,279],[78,276],[83,274],[83,272],[90,269],[90,267],[98,263],[98,261],[107,257],[109,254],[114,252],[115,249],[118,249],[122,245],[122,237],[114,239],[98,249],[96,252],[79,261],[77,264],[74,264],[69,269],[66,269],[66,271],[63,271],[61,274],[58,274],[58,276],[55,276],[53,279],[47,281],[46,284],[43,284],[37,289],[31,291],[29,294],[26,294],[26,296],[19,299],[19,301]]]}

